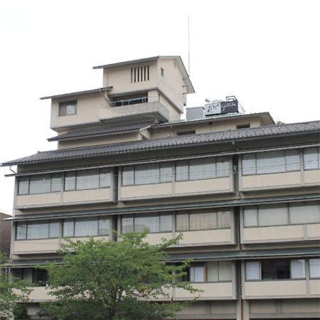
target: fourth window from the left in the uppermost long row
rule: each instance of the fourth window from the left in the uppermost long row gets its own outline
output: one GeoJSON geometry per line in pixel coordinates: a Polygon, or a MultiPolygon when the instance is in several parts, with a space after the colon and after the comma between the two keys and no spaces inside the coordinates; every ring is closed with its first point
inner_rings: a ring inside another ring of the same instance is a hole
{"type": "Polygon", "coordinates": [[[181,160],[176,162],[176,181],[201,180],[230,176],[225,156],[181,160]]]}

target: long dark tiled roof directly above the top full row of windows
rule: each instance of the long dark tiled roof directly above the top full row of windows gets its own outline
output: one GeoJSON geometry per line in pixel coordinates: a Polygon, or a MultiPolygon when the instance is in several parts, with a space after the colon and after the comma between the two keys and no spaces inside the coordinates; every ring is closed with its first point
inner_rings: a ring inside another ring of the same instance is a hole
{"type": "Polygon", "coordinates": [[[294,134],[316,133],[320,134],[320,120],[314,122],[302,122],[294,124],[279,124],[257,128],[236,129],[222,132],[208,132],[204,134],[190,134],[161,139],[139,140],[134,142],[122,142],[117,144],[105,144],[98,146],[86,146],[73,149],[60,149],[43,151],[13,161],[7,161],[3,166],[16,164],[36,164],[48,161],[61,161],[67,159],[81,159],[95,156],[107,156],[112,154],[130,154],[141,151],[151,151],[183,146],[195,146],[203,144],[222,143],[232,140],[250,140],[260,137],[287,136],[294,134]]]}

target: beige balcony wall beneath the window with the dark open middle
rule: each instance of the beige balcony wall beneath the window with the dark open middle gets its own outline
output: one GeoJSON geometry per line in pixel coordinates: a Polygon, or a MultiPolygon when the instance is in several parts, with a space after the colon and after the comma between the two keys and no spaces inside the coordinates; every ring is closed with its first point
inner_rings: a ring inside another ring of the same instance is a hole
{"type": "Polygon", "coordinates": [[[245,282],[243,299],[306,298],[320,296],[320,279],[245,282]]]}

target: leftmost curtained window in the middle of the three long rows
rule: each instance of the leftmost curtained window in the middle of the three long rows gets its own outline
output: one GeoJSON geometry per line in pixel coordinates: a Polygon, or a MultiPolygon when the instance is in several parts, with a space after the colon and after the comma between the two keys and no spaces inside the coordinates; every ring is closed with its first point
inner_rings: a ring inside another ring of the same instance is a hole
{"type": "Polygon", "coordinates": [[[23,221],[16,223],[16,240],[48,239],[60,236],[58,220],[23,221]]]}

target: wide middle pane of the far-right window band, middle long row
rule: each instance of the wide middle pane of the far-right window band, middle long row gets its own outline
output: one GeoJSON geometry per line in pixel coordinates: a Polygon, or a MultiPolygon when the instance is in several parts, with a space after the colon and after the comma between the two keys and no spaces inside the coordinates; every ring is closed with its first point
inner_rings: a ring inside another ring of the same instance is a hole
{"type": "Polygon", "coordinates": [[[286,205],[259,206],[259,225],[287,225],[288,208],[286,205]]]}

